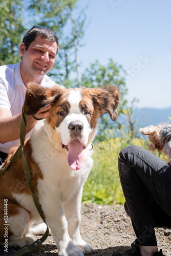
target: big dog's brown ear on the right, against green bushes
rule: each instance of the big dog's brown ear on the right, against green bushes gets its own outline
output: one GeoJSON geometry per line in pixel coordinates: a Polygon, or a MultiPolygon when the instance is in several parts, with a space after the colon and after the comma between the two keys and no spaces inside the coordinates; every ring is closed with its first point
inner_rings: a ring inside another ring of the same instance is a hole
{"type": "Polygon", "coordinates": [[[91,95],[95,106],[98,106],[98,113],[101,116],[108,112],[111,119],[117,119],[117,106],[120,102],[119,92],[116,86],[105,86],[103,88],[91,89],[91,95]]]}

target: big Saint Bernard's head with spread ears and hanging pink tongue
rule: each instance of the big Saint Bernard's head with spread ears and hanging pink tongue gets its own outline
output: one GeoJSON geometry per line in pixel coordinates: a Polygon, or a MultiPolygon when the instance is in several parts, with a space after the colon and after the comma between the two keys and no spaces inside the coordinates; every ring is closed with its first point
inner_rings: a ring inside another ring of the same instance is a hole
{"type": "Polygon", "coordinates": [[[82,150],[94,138],[98,117],[106,111],[112,120],[116,120],[119,101],[115,86],[92,89],[54,86],[50,89],[29,83],[24,112],[34,115],[39,109],[52,105],[47,122],[60,133],[61,146],[68,151],[69,164],[78,163],[74,167],[77,169],[82,164],[82,150]]]}

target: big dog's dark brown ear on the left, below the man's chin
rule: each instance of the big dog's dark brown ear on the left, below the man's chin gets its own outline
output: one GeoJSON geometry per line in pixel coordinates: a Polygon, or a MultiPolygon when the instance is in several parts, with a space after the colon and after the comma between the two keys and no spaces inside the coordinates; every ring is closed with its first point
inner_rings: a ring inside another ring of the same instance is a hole
{"type": "Polygon", "coordinates": [[[35,115],[38,110],[56,101],[61,90],[59,86],[44,88],[37,83],[28,83],[24,102],[24,113],[27,115],[35,115]]]}

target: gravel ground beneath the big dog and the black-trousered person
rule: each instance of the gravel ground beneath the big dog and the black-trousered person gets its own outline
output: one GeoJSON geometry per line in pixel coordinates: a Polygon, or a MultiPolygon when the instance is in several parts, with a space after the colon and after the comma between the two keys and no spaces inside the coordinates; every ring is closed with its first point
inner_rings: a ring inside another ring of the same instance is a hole
{"type": "MultiPolygon", "coordinates": [[[[135,240],[130,218],[123,205],[82,204],[80,232],[82,238],[93,247],[92,256],[111,256],[113,251],[129,249],[135,240]]],[[[159,249],[163,250],[164,255],[171,256],[171,230],[156,228],[156,237],[159,249]]],[[[35,240],[37,238],[40,237],[36,236],[35,240]]],[[[9,247],[6,253],[3,246],[0,246],[0,255],[12,255],[17,249],[9,247]]],[[[52,236],[28,255],[58,255],[52,236]]]]}

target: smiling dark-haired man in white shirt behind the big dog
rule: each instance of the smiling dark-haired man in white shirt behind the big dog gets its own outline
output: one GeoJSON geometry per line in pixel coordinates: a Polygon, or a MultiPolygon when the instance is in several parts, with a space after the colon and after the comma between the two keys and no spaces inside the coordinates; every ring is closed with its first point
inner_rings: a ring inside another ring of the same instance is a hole
{"type": "MultiPolygon", "coordinates": [[[[33,26],[26,32],[19,47],[22,61],[0,67],[0,164],[9,148],[19,145],[20,117],[28,82],[50,87],[53,82],[46,74],[55,63],[58,38],[47,28],[33,26]]],[[[50,106],[27,119],[27,137],[38,119],[48,116],[50,106]]]]}

